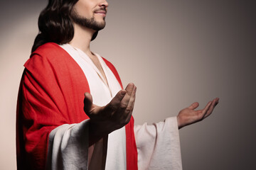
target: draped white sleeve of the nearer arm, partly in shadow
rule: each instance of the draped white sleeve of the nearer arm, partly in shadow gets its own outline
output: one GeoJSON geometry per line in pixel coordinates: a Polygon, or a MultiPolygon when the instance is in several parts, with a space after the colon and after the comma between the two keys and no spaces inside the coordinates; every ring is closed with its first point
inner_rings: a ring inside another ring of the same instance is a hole
{"type": "Polygon", "coordinates": [[[60,125],[50,132],[46,169],[105,169],[107,139],[89,147],[89,120],[60,125]]]}

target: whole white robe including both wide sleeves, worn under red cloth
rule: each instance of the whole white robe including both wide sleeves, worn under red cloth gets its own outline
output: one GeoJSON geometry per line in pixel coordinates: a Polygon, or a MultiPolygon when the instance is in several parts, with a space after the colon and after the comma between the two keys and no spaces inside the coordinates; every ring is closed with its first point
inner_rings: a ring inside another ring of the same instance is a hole
{"type": "MultiPolygon", "coordinates": [[[[105,106],[121,89],[112,71],[100,61],[107,82],[82,50],[65,44],[60,45],[78,63],[90,87],[93,103],[105,106]]],[[[88,120],[72,125],[61,125],[50,132],[48,142],[48,169],[126,169],[125,128],[115,130],[108,142],[100,140],[88,147],[88,120]],[[80,136],[82,136],[82,141],[80,136]],[[107,149],[106,164],[104,161],[107,149]],[[82,153],[88,157],[80,157],[82,153]],[[60,164],[60,162],[62,162],[60,164]]],[[[181,150],[176,117],[153,125],[135,125],[134,135],[138,151],[138,169],[182,169],[181,150]]]]}

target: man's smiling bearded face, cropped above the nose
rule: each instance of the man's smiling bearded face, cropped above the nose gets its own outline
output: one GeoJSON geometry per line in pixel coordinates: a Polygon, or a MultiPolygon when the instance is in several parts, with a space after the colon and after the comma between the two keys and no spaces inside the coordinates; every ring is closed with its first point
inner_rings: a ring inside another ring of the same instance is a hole
{"type": "Polygon", "coordinates": [[[106,0],[78,0],[70,16],[80,26],[101,30],[106,25],[107,6],[106,0]]]}

